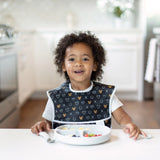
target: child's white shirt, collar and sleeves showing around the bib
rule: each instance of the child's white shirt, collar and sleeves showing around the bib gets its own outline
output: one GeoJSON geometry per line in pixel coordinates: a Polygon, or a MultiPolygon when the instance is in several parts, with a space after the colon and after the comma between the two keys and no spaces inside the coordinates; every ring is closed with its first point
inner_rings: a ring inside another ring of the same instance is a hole
{"type": "MultiPolygon", "coordinates": [[[[77,91],[77,90],[73,90],[71,87],[71,84],[69,84],[69,88],[72,92],[88,92],[92,89],[93,87],[93,82],[91,83],[91,86],[83,91],[77,91]]],[[[48,92],[47,92],[48,95],[48,92]]],[[[111,107],[111,112],[114,112],[116,109],[118,109],[119,107],[121,107],[123,104],[122,102],[117,98],[116,95],[113,95],[113,97],[111,98],[111,103],[110,103],[110,107],[111,107]]],[[[48,95],[48,101],[45,107],[45,110],[42,114],[42,117],[45,118],[46,120],[49,121],[53,121],[54,120],[54,103],[51,99],[51,97],[48,95]]]]}

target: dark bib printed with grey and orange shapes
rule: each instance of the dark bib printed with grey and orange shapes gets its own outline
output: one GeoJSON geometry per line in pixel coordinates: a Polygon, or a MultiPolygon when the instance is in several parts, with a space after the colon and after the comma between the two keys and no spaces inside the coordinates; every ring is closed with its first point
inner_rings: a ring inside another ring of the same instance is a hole
{"type": "Polygon", "coordinates": [[[55,122],[96,122],[108,120],[111,123],[109,103],[114,86],[93,82],[88,92],[72,92],[69,83],[49,91],[54,103],[55,122]]]}

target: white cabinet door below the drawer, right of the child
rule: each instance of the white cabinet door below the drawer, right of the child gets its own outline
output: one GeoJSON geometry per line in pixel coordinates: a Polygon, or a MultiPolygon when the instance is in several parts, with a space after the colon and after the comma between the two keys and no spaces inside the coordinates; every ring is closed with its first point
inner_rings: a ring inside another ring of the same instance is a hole
{"type": "Polygon", "coordinates": [[[116,85],[118,91],[137,90],[137,52],[135,48],[108,49],[102,82],[116,85]]]}

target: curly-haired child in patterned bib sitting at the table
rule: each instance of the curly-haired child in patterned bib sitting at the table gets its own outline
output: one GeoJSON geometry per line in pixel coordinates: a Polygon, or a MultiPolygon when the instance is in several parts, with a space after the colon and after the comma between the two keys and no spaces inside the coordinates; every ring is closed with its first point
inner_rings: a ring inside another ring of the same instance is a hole
{"type": "Polygon", "coordinates": [[[103,124],[111,127],[111,116],[124,132],[137,139],[146,136],[122,109],[114,94],[115,87],[96,82],[102,78],[105,51],[90,32],[64,36],[55,50],[57,71],[64,73],[66,82],[47,92],[48,102],[44,121],[37,122],[31,131],[39,135],[62,124],[103,124]]]}

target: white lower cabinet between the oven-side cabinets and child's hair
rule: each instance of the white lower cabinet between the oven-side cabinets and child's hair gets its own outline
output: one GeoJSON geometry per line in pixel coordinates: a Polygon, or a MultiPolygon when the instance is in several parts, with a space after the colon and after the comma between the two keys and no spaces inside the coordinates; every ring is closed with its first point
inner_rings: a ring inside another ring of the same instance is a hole
{"type": "Polygon", "coordinates": [[[59,39],[64,35],[63,31],[37,32],[35,38],[35,81],[36,91],[43,92],[58,87],[64,78],[57,73],[54,64],[54,53],[59,39]]]}

